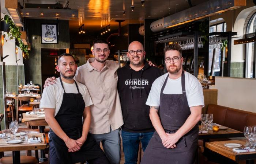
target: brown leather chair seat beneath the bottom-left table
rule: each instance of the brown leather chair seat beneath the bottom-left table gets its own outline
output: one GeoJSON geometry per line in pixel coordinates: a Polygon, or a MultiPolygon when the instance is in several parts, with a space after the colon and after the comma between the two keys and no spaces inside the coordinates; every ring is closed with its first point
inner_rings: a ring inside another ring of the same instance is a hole
{"type": "MultiPolygon", "coordinates": [[[[12,164],[12,157],[2,157],[0,164],[12,164]]],[[[20,156],[20,164],[37,164],[38,161],[35,157],[31,156],[20,156]]]]}

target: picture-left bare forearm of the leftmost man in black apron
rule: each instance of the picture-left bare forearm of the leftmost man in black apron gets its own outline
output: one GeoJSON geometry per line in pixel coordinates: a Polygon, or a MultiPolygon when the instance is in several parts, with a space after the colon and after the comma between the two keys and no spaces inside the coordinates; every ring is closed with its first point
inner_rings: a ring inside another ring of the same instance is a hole
{"type": "Polygon", "coordinates": [[[53,132],[60,137],[64,142],[67,142],[69,140],[69,137],[67,134],[61,129],[60,124],[57,122],[57,120],[54,117],[50,117],[48,119],[45,119],[50,128],[53,130],[53,132]]]}

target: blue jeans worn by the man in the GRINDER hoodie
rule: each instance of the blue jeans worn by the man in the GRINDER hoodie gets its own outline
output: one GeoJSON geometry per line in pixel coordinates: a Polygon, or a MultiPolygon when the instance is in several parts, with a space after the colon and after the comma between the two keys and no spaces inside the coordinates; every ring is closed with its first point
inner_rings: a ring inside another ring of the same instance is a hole
{"type": "Polygon", "coordinates": [[[147,144],[154,132],[131,133],[122,130],[123,151],[125,164],[136,164],[138,160],[139,143],[142,143],[142,150],[145,152],[147,144]]]}

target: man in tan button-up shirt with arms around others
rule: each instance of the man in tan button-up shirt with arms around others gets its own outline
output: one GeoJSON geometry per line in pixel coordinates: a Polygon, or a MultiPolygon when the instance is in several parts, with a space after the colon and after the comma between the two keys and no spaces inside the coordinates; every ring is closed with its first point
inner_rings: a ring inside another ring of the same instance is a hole
{"type": "MultiPolygon", "coordinates": [[[[117,92],[117,69],[119,65],[107,60],[109,46],[105,39],[94,40],[94,58],[78,67],[75,80],[86,85],[93,105],[91,108],[90,133],[94,139],[102,142],[106,157],[111,164],[119,164],[121,159],[120,127],[124,124],[121,104],[117,92]]],[[[46,84],[54,82],[48,78],[46,84]]]]}

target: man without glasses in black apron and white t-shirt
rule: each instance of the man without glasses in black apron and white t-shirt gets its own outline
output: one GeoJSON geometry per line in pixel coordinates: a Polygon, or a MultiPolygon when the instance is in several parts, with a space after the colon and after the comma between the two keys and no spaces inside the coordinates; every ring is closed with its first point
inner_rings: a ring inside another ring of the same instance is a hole
{"type": "Polygon", "coordinates": [[[105,154],[91,137],[90,105],[92,101],[86,86],[74,81],[77,66],[70,54],[59,56],[60,78],[56,85],[44,89],[40,108],[45,109],[45,120],[50,125],[49,163],[109,164],[105,154]]]}

